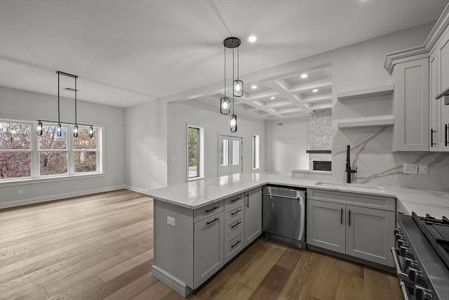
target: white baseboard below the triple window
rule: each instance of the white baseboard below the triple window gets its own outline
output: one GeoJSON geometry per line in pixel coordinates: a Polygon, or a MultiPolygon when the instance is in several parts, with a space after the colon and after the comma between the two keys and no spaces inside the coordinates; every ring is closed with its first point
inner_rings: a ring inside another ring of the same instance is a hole
{"type": "Polygon", "coordinates": [[[6,209],[8,207],[19,207],[22,205],[36,204],[36,203],[48,202],[48,201],[54,201],[54,200],[61,200],[61,199],[69,198],[69,197],[78,197],[78,196],[90,195],[90,194],[95,194],[95,193],[110,192],[112,190],[121,190],[123,188],[126,188],[126,185],[107,186],[105,188],[94,188],[92,190],[78,190],[76,192],[71,192],[71,193],[48,195],[48,196],[43,196],[43,197],[34,197],[34,198],[17,200],[17,201],[4,202],[4,203],[0,203],[0,209],[6,209]]]}

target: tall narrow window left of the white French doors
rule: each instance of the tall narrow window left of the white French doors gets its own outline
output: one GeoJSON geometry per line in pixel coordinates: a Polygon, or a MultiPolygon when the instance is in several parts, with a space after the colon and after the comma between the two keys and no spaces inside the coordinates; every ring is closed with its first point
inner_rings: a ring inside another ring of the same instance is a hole
{"type": "Polygon", "coordinates": [[[203,128],[187,126],[187,178],[203,176],[203,128]]]}

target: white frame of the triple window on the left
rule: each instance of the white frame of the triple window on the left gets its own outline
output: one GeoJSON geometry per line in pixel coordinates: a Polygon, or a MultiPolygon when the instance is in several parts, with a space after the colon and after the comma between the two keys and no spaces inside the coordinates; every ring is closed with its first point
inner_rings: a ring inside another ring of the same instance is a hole
{"type": "MultiPolygon", "coordinates": [[[[28,177],[14,177],[14,178],[0,178],[0,185],[22,185],[24,183],[32,183],[33,181],[38,182],[51,182],[60,180],[70,180],[73,178],[90,178],[105,176],[104,169],[104,159],[105,155],[103,153],[102,143],[104,143],[104,129],[101,125],[93,125],[94,130],[97,134],[95,138],[97,139],[97,171],[93,172],[74,172],[74,136],[73,136],[73,126],[71,124],[61,123],[62,126],[67,127],[67,149],[56,150],[56,149],[39,149],[39,136],[36,134],[37,122],[32,120],[20,120],[20,119],[10,119],[5,117],[0,117],[1,123],[14,123],[14,124],[27,124],[30,125],[30,150],[21,150],[26,152],[31,152],[31,176],[28,177]],[[67,152],[67,173],[65,174],[53,174],[53,175],[40,175],[40,152],[53,152],[62,151],[67,152]]],[[[43,126],[55,126],[57,123],[53,122],[43,122],[43,126]]],[[[83,126],[84,127],[84,126],[83,126]]],[[[89,150],[90,151],[90,150],[89,150]]],[[[0,150],[0,152],[18,152],[17,150],[0,150]]]]}

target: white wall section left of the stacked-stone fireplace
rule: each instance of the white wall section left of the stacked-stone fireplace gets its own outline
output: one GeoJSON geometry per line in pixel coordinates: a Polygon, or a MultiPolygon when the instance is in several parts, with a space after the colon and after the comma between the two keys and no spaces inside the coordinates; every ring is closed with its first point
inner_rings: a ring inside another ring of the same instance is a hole
{"type": "Polygon", "coordinates": [[[265,141],[265,171],[309,169],[309,117],[266,121],[265,141]]]}

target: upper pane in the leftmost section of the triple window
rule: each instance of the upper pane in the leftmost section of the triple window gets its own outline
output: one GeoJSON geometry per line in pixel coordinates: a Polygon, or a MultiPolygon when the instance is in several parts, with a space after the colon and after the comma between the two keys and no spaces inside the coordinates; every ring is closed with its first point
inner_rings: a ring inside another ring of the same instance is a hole
{"type": "Polygon", "coordinates": [[[0,123],[0,149],[31,149],[29,124],[0,123]]]}

